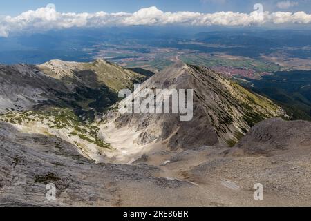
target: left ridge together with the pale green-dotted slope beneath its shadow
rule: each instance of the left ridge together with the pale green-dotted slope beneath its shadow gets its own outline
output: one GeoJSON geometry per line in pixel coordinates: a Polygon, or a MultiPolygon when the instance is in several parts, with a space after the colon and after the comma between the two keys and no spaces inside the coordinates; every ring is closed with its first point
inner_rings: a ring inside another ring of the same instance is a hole
{"type": "Polygon", "coordinates": [[[92,125],[117,102],[117,90],[144,76],[102,59],[91,63],[49,61],[0,66],[0,120],[19,131],[59,137],[84,157],[103,162],[113,148],[92,125]]]}

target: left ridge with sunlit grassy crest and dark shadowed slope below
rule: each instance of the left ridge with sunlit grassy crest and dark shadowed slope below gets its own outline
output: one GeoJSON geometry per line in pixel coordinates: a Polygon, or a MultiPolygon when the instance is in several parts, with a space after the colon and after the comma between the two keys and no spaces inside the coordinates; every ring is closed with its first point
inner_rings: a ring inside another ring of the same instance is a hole
{"type": "Polygon", "coordinates": [[[120,88],[133,88],[134,82],[143,80],[143,75],[102,59],[91,63],[53,60],[39,66],[1,65],[0,112],[38,106],[68,107],[78,114],[103,112],[117,101],[120,88]]]}

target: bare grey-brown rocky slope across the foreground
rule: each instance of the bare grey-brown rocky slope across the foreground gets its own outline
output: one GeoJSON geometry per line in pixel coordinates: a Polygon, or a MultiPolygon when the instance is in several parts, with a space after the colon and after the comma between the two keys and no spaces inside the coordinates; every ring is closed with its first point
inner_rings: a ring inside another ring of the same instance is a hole
{"type": "MultiPolygon", "coordinates": [[[[274,119],[265,124],[273,125],[274,119]]],[[[283,130],[279,126],[276,124],[273,130],[283,130]]],[[[304,128],[299,127],[299,131],[304,128]]],[[[247,139],[252,139],[251,135],[247,139]]],[[[310,146],[300,151],[288,148],[246,157],[226,154],[232,148],[201,146],[145,155],[133,164],[94,164],[76,146],[58,137],[22,133],[3,122],[0,143],[0,206],[162,206],[165,202],[166,206],[223,207],[311,203],[310,146]],[[57,187],[57,198],[49,201],[46,184],[51,182],[57,187]],[[264,200],[253,198],[253,186],[258,182],[264,186],[264,200]]]]}

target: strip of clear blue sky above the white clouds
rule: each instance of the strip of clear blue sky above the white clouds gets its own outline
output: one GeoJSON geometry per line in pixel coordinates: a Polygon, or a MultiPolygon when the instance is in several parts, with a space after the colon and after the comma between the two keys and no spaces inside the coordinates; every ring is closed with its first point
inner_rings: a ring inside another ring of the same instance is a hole
{"type": "MultiPolygon", "coordinates": [[[[191,12],[250,12],[254,3],[262,3],[265,10],[310,12],[310,0],[288,1],[289,8],[279,8],[278,2],[288,0],[10,0],[1,1],[0,15],[18,15],[26,10],[35,10],[54,3],[59,12],[135,12],[140,8],[156,6],[163,11],[191,11],[191,12]]],[[[286,4],[285,4],[286,5],[286,4]]]]}

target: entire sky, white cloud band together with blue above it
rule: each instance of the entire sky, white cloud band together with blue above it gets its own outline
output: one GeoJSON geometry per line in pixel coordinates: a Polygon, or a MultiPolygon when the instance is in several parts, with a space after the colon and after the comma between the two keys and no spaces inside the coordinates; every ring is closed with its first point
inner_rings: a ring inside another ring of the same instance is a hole
{"type": "Polygon", "coordinates": [[[311,0],[10,0],[0,37],[105,26],[311,26],[311,0]]]}

